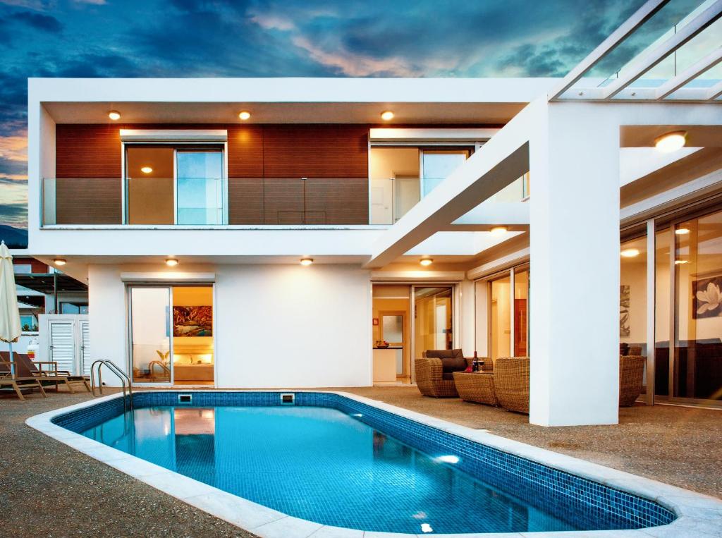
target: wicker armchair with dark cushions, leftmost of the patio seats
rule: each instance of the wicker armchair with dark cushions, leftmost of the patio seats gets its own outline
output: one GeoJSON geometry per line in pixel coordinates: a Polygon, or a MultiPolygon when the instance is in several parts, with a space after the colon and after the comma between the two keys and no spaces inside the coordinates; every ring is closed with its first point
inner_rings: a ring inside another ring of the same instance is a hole
{"type": "Polygon", "coordinates": [[[463,371],[473,361],[462,350],[427,350],[414,361],[416,385],[424,396],[458,398],[453,372],[463,371]]]}

